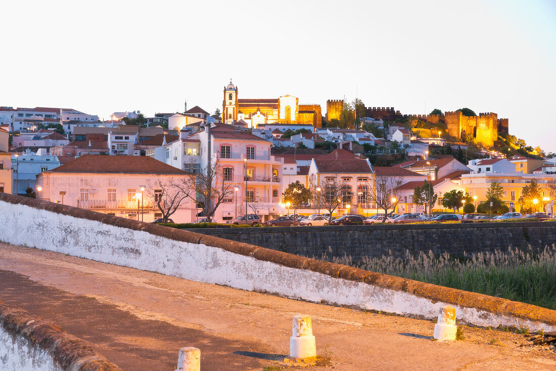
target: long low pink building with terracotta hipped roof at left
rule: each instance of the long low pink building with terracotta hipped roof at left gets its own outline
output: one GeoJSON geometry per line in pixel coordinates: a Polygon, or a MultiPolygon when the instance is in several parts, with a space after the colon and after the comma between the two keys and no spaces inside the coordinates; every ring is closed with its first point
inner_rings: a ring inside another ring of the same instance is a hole
{"type": "MultiPolygon", "coordinates": [[[[161,218],[155,198],[166,182],[182,182],[187,173],[147,156],[82,155],[37,175],[41,198],[109,215],[152,222],[161,218]],[[141,191],[141,188],[144,188],[141,191]]],[[[171,218],[195,220],[196,209],[186,199],[171,218]]]]}

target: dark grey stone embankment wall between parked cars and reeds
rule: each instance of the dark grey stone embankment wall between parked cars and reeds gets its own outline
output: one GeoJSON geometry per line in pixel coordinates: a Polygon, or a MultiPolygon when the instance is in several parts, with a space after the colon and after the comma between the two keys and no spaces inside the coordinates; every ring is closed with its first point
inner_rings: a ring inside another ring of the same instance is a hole
{"type": "Polygon", "coordinates": [[[393,255],[420,251],[466,256],[507,250],[509,246],[544,248],[556,243],[556,223],[386,224],[374,226],[265,227],[197,229],[198,233],[320,258],[393,255]]]}

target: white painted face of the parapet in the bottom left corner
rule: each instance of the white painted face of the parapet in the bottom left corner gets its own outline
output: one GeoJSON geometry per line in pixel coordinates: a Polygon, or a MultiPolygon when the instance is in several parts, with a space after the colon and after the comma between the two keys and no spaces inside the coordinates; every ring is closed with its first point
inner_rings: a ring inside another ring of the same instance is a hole
{"type": "Polygon", "coordinates": [[[0,326],[0,369],[62,371],[52,355],[33,346],[19,334],[12,334],[0,326]]]}

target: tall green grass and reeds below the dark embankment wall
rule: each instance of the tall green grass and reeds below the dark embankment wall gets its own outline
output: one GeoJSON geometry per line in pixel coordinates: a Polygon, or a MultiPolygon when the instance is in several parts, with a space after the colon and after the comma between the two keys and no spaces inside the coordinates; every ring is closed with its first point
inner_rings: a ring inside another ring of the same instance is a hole
{"type": "Polygon", "coordinates": [[[413,257],[406,251],[403,258],[366,257],[357,264],[350,256],[321,259],[556,310],[555,245],[542,250],[510,247],[506,252],[474,253],[469,258],[456,258],[449,253],[435,256],[432,251],[413,257]]]}

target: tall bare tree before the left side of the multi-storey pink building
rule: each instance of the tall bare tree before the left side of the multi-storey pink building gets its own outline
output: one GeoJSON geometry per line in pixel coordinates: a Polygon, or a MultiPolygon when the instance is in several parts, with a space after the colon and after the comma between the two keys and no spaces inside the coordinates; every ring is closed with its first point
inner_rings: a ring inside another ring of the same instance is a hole
{"type": "Polygon", "coordinates": [[[234,186],[231,180],[225,179],[218,159],[200,169],[191,187],[195,192],[189,194],[189,197],[203,205],[203,211],[209,221],[224,199],[234,194],[234,186]]]}

